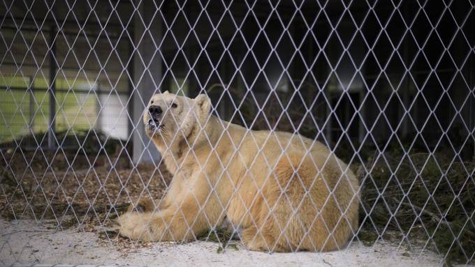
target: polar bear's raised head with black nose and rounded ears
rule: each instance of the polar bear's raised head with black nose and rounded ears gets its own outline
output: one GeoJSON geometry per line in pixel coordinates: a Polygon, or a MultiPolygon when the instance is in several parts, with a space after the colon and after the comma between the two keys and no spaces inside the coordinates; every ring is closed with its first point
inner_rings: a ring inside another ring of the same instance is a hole
{"type": "Polygon", "coordinates": [[[201,94],[196,98],[157,93],[149,101],[143,114],[145,132],[159,143],[187,138],[204,127],[210,116],[211,101],[201,94]]]}

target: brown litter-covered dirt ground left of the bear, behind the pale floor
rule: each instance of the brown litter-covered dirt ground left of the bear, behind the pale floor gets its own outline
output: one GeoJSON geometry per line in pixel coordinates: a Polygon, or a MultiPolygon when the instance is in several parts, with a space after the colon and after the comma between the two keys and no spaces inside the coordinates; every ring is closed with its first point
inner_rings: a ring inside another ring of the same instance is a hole
{"type": "Polygon", "coordinates": [[[171,179],[164,167],[132,167],[126,153],[108,157],[73,151],[7,151],[3,155],[9,164],[0,169],[2,217],[56,220],[66,229],[93,229],[142,198],[160,199],[171,179]]]}

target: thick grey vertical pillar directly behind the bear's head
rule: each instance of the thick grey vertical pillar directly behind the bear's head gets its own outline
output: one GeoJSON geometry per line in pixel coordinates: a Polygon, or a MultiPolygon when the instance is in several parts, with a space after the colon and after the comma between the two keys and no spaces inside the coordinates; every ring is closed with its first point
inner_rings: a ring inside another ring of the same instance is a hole
{"type": "Polygon", "coordinates": [[[133,56],[133,162],[156,162],[160,159],[154,144],[145,135],[142,114],[150,97],[159,92],[161,82],[161,56],[155,44],[161,40],[160,13],[154,13],[152,0],[142,1],[133,22],[136,51],[133,56]],[[140,20],[140,18],[142,20],[140,20]],[[144,34],[145,33],[145,34],[144,34]],[[142,37],[143,36],[143,37],[142,37]],[[140,54],[140,56],[138,56],[140,54]]]}

